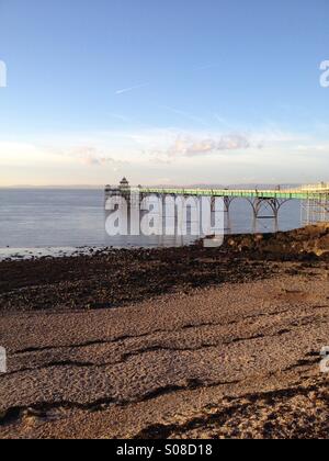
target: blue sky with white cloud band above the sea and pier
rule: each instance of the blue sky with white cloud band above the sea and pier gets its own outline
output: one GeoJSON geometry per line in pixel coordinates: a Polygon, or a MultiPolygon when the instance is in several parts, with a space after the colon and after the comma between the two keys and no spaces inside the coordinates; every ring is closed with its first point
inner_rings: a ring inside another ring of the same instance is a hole
{"type": "Polygon", "coordinates": [[[328,181],[328,0],[0,0],[0,187],[328,181]]]}

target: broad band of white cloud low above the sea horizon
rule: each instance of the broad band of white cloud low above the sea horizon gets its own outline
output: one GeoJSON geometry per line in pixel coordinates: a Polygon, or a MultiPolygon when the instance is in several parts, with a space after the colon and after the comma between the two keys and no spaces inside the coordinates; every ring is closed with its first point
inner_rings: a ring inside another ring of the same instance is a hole
{"type": "Polygon", "coordinates": [[[220,171],[222,182],[241,182],[246,177],[266,182],[270,172],[277,182],[294,182],[303,171],[305,181],[311,182],[328,171],[328,154],[325,136],[270,127],[247,133],[223,126],[218,131],[145,128],[44,135],[21,142],[0,139],[0,183],[107,183],[125,175],[136,184],[183,184],[186,178],[189,183],[219,181],[220,171]],[[286,167],[288,162],[293,169],[286,167]]]}

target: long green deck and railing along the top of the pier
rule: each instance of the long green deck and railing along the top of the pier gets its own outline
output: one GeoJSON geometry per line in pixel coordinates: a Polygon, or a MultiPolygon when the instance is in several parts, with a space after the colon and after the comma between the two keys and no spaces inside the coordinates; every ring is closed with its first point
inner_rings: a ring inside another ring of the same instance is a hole
{"type": "Polygon", "coordinates": [[[235,190],[235,189],[167,189],[140,188],[140,193],[189,196],[229,196],[245,199],[277,200],[329,200],[329,189],[292,189],[292,190],[235,190]]]}

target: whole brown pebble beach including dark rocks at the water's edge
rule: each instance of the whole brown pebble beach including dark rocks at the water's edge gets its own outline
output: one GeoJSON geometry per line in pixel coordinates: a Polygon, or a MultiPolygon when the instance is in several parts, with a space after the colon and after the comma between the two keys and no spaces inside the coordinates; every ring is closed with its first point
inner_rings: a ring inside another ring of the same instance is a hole
{"type": "Polygon", "coordinates": [[[0,263],[0,438],[328,438],[328,228],[0,263]]]}

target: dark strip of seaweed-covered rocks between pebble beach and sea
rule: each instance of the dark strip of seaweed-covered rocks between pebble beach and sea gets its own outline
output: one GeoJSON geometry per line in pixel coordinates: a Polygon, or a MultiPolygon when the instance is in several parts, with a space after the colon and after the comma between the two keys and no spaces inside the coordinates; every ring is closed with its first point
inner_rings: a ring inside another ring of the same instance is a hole
{"type": "Polygon", "coordinates": [[[113,308],[161,294],[303,273],[329,260],[329,225],[229,236],[219,248],[82,249],[0,262],[0,311],[113,308]],[[37,288],[37,289],[36,289],[37,288]]]}

